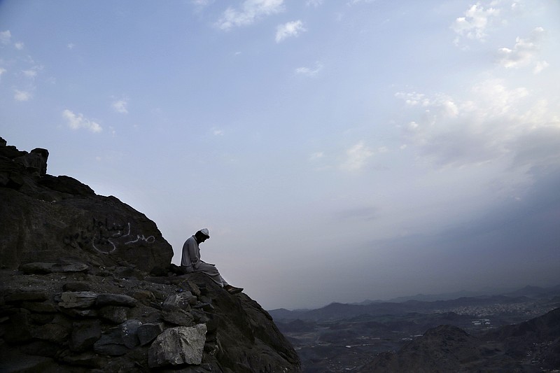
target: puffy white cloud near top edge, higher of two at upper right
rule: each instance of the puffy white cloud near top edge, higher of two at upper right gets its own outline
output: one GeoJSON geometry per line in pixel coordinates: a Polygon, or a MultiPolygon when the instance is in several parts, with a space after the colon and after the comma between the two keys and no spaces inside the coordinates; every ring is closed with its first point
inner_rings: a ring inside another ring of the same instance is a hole
{"type": "MultiPolygon", "coordinates": [[[[465,11],[464,17],[456,18],[455,22],[451,25],[451,29],[459,36],[483,41],[486,37],[486,27],[488,27],[491,19],[499,14],[499,9],[484,8],[478,2],[465,11]]],[[[458,39],[456,39],[456,43],[458,43],[458,39]]]]}

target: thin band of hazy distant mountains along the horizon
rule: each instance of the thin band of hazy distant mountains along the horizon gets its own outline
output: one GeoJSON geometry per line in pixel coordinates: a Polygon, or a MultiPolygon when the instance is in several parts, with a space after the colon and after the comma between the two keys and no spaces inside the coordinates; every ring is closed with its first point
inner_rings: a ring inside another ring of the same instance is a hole
{"type": "MultiPolygon", "coordinates": [[[[464,295],[468,292],[459,292],[457,295],[464,295]]],[[[320,309],[294,310],[273,309],[268,311],[274,320],[312,320],[326,321],[337,320],[341,318],[350,318],[362,314],[367,315],[391,315],[406,314],[407,312],[430,312],[442,311],[446,309],[454,309],[457,307],[477,307],[487,306],[491,304],[516,304],[526,303],[531,300],[539,300],[542,298],[551,299],[560,297],[560,286],[550,288],[540,288],[538,286],[526,286],[519,290],[509,291],[500,295],[477,295],[477,296],[461,296],[454,299],[446,295],[417,295],[415,297],[400,297],[398,301],[390,302],[370,302],[361,304],[344,304],[331,303],[320,309]],[[419,297],[420,300],[416,299],[419,297]],[[437,298],[440,297],[438,300],[437,298]],[[441,298],[444,300],[441,300],[441,298]]]]}

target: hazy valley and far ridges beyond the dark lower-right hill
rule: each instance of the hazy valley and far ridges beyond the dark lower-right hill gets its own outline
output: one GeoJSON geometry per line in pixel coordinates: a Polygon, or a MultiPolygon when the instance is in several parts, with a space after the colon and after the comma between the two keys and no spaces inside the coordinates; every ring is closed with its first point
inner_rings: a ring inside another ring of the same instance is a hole
{"type": "MultiPolygon", "coordinates": [[[[439,325],[482,337],[560,307],[559,293],[550,288],[433,302],[335,303],[323,309],[269,312],[299,354],[303,372],[365,372],[363,367],[380,353],[395,353],[439,325]]],[[[529,364],[532,358],[538,365],[539,351],[538,344],[528,351],[529,364]]]]}

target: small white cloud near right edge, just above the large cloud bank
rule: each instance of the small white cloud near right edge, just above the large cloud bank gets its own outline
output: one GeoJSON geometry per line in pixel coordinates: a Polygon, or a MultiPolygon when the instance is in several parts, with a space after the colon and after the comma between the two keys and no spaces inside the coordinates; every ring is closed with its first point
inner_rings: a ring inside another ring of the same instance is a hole
{"type": "MultiPolygon", "coordinates": [[[[504,66],[506,69],[519,69],[519,67],[531,64],[538,53],[540,41],[544,32],[545,29],[537,27],[531,32],[528,38],[517,37],[512,49],[500,48],[498,50],[498,53],[502,56],[500,65],[504,66]]],[[[541,67],[544,68],[542,65],[541,67]]],[[[540,70],[538,70],[538,72],[540,72],[540,70]]]]}

